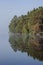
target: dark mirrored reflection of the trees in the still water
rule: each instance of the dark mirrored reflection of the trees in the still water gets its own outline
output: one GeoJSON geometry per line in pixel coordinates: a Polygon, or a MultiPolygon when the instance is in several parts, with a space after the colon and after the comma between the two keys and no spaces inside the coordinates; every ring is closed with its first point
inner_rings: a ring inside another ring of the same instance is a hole
{"type": "Polygon", "coordinates": [[[43,61],[43,38],[29,34],[10,34],[9,42],[15,52],[26,52],[34,59],[43,61]]]}

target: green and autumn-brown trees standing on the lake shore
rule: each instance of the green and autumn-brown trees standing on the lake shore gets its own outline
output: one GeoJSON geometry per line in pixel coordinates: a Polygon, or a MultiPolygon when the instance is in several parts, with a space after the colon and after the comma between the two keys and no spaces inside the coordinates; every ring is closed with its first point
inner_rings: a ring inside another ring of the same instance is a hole
{"type": "Polygon", "coordinates": [[[26,15],[14,16],[10,22],[9,30],[13,33],[31,33],[39,32],[39,22],[43,20],[43,7],[34,8],[28,11],[26,15]]]}

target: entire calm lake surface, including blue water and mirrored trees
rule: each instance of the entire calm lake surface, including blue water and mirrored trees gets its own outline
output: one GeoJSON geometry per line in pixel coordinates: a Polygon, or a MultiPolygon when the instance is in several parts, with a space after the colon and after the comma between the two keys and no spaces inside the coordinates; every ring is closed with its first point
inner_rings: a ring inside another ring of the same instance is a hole
{"type": "Polygon", "coordinates": [[[0,65],[43,65],[41,41],[28,34],[0,34],[0,65]]]}

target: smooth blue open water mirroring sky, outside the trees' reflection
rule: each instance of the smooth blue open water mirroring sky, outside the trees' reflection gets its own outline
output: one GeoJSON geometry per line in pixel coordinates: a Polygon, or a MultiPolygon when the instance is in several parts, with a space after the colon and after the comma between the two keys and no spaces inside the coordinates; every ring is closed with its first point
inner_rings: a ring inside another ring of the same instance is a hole
{"type": "Polygon", "coordinates": [[[43,61],[33,59],[27,53],[17,51],[16,53],[10,47],[8,35],[0,35],[0,65],[43,65],[43,61]]]}

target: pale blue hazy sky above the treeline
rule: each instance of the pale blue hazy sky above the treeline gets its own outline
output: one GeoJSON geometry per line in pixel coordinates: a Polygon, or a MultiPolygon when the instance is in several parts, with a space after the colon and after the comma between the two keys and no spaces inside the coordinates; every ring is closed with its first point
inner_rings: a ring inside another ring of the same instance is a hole
{"type": "Polygon", "coordinates": [[[26,14],[27,11],[43,6],[43,0],[0,0],[0,30],[5,31],[14,15],[26,14]]]}

